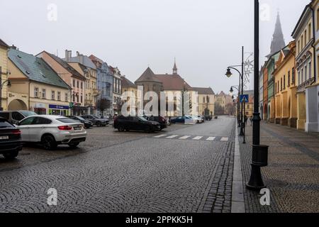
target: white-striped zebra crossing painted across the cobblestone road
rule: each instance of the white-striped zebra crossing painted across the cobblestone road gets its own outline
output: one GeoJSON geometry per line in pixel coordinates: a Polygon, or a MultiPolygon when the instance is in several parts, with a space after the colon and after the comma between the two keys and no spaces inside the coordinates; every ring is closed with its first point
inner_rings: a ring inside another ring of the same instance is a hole
{"type": "Polygon", "coordinates": [[[200,141],[200,140],[206,140],[211,142],[228,142],[230,138],[228,137],[220,137],[220,136],[203,136],[203,135],[167,135],[167,134],[161,134],[161,135],[155,135],[153,138],[162,138],[162,139],[168,139],[168,140],[194,140],[194,141],[200,141]]]}

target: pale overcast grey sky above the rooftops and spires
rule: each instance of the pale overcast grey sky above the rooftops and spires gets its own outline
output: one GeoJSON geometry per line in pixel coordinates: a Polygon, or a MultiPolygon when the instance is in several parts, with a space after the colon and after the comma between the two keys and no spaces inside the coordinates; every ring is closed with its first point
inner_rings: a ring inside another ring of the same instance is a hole
{"type": "MultiPolygon", "coordinates": [[[[309,0],[261,0],[270,6],[260,23],[261,62],[269,54],[276,13],[288,44],[309,0]]],[[[34,55],[42,50],[64,57],[65,50],[94,54],[119,67],[133,82],[149,65],[179,74],[193,87],[228,92],[238,77],[226,78],[228,65],[240,64],[241,46],[252,52],[253,0],[11,0],[1,1],[0,38],[34,55]],[[57,6],[57,21],[47,6],[57,6]]]]}

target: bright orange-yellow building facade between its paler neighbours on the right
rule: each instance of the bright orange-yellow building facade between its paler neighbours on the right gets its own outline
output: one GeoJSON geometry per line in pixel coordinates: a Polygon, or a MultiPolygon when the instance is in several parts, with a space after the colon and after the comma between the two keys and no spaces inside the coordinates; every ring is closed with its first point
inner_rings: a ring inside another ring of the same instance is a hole
{"type": "Polygon", "coordinates": [[[289,43],[288,47],[281,50],[274,71],[275,122],[292,128],[296,128],[298,120],[295,53],[296,42],[293,41],[289,43]]]}

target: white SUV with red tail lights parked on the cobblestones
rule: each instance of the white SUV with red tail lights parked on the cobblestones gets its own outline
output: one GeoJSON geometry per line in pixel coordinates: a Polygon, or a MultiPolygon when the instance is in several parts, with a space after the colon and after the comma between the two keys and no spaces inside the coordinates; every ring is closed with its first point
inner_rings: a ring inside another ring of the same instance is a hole
{"type": "Polygon", "coordinates": [[[64,116],[29,116],[17,123],[22,142],[41,143],[47,150],[67,144],[76,148],[86,140],[84,125],[64,116]]]}

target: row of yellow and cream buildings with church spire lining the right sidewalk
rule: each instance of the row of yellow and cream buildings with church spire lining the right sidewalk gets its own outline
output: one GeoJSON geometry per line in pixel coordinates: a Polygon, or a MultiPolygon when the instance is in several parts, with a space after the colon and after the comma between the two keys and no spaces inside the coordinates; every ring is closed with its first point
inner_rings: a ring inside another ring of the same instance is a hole
{"type": "Polygon", "coordinates": [[[272,51],[259,74],[260,112],[272,123],[319,131],[319,4],[308,4],[286,45],[279,16],[272,51]]]}

